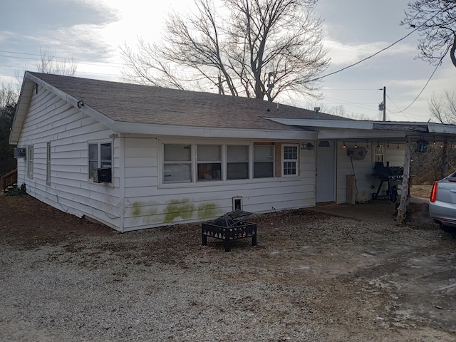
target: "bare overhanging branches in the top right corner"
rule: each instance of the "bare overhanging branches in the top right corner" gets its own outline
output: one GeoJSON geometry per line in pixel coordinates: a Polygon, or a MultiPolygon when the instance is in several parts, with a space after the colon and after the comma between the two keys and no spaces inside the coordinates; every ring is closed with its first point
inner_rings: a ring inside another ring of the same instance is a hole
{"type": "Polygon", "coordinates": [[[418,58],[437,65],[450,52],[451,61],[456,66],[456,1],[410,2],[400,24],[420,32],[418,58]]]}

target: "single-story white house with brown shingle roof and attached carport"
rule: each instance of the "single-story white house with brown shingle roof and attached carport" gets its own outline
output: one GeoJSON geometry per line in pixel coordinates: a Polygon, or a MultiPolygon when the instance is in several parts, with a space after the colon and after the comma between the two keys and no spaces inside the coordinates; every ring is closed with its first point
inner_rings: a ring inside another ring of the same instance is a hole
{"type": "Polygon", "coordinates": [[[29,195],[128,232],[236,208],[365,202],[378,188],[375,161],[403,165],[407,137],[448,133],[455,127],[26,72],[10,143],[29,195]]]}

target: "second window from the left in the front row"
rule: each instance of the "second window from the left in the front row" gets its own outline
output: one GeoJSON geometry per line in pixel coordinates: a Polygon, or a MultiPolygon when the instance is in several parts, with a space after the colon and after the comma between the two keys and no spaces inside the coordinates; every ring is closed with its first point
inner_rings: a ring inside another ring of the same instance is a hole
{"type": "Polygon", "coordinates": [[[197,145],[198,182],[222,180],[222,146],[197,145]]]}

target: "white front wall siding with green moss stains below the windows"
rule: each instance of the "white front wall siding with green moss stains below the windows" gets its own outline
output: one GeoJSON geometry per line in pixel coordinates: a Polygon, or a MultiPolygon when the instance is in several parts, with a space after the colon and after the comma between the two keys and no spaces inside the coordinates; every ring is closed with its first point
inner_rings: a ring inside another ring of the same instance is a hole
{"type": "MultiPolygon", "coordinates": [[[[301,175],[256,180],[160,182],[161,144],[155,138],[125,138],[125,231],[176,222],[199,222],[232,211],[233,197],[247,212],[315,205],[314,151],[300,150],[301,175]]],[[[195,140],[166,140],[198,144],[195,140]]],[[[252,141],[204,140],[205,144],[252,145],[252,141]]]]}

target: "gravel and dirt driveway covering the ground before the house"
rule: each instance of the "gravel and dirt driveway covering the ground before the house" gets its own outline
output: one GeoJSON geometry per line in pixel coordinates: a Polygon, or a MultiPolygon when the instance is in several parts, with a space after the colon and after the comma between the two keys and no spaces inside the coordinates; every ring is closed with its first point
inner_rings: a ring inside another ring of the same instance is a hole
{"type": "Polygon", "coordinates": [[[0,341],[455,341],[456,238],[310,210],[128,234],[0,196],[0,341]]]}

